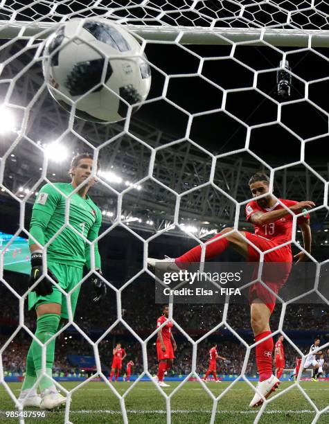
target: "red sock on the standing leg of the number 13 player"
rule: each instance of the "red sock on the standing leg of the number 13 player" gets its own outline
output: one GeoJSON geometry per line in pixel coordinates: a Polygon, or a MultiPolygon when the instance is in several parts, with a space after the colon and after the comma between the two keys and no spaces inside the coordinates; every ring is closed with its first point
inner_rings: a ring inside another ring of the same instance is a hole
{"type": "MultiPolygon", "coordinates": [[[[255,336],[256,342],[267,337],[271,334],[271,331],[263,331],[255,336]]],[[[269,337],[269,339],[264,342],[258,344],[256,346],[256,364],[259,374],[259,381],[267,380],[272,376],[272,351],[273,351],[274,343],[273,337],[269,337]]]]}

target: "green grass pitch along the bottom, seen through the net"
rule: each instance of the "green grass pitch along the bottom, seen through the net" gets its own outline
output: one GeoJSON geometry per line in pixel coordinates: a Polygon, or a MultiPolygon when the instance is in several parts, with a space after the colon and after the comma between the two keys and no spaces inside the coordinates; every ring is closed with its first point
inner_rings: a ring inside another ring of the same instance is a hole
{"type": "MultiPolygon", "coordinates": [[[[282,393],[283,389],[292,386],[292,382],[283,382],[277,393],[282,393]]],[[[73,389],[78,383],[66,382],[63,386],[66,389],[73,389]]],[[[124,394],[132,385],[129,382],[113,383],[118,394],[124,394]]],[[[179,383],[170,382],[170,387],[165,389],[166,394],[170,394],[179,383]]],[[[208,382],[207,387],[215,396],[220,395],[228,382],[208,382]]],[[[15,396],[18,396],[20,383],[10,383],[10,389],[15,396]]],[[[319,409],[328,405],[329,382],[302,382],[301,387],[319,409]]],[[[253,392],[245,382],[238,382],[220,400],[217,407],[215,423],[253,423],[258,409],[248,407],[253,392]]],[[[3,386],[0,387],[0,422],[18,423],[17,418],[8,419],[3,411],[12,410],[13,405],[10,397],[3,386]]],[[[138,424],[164,424],[166,423],[166,402],[159,394],[159,391],[151,382],[139,382],[127,394],[125,406],[129,423],[138,424]]],[[[186,382],[172,397],[172,424],[203,424],[209,423],[213,402],[199,382],[186,382]]],[[[33,410],[33,408],[27,408],[33,410]]],[[[38,410],[38,409],[34,409],[38,410]]],[[[303,397],[298,387],[293,387],[283,396],[274,402],[269,403],[259,423],[311,423],[315,412],[310,403],[303,397]]],[[[121,407],[118,398],[114,396],[111,389],[102,382],[88,382],[73,394],[71,403],[70,421],[73,424],[102,423],[118,424],[122,423],[121,407]]],[[[46,419],[30,418],[25,423],[64,423],[64,410],[46,412],[46,419]]],[[[318,423],[329,422],[329,414],[323,414],[318,423]]]]}

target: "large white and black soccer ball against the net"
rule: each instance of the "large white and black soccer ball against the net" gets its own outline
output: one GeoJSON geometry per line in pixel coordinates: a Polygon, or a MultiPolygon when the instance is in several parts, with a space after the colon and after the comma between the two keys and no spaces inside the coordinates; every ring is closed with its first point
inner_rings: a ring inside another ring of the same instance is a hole
{"type": "Polygon", "coordinates": [[[75,116],[100,123],[121,121],[150,91],[151,71],[139,42],[107,19],[74,19],[46,41],[44,78],[55,100],[75,116]]]}

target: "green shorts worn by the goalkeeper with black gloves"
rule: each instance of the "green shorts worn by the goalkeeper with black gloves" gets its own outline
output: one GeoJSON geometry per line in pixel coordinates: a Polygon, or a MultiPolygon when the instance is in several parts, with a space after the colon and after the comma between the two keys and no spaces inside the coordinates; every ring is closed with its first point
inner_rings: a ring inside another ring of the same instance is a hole
{"type": "MultiPolygon", "coordinates": [[[[82,267],[73,267],[71,265],[64,265],[63,263],[48,262],[48,268],[57,278],[58,285],[60,285],[60,287],[66,293],[75,288],[75,286],[78,285],[78,283],[80,283],[82,280],[82,267]]],[[[78,301],[80,287],[81,286],[77,287],[71,293],[71,308],[73,317],[78,301]]],[[[28,310],[37,308],[37,306],[41,305],[42,303],[59,303],[62,305],[61,317],[69,319],[66,299],[69,301],[70,297],[66,297],[65,294],[62,294],[62,292],[60,292],[60,290],[58,290],[57,287],[53,285],[53,292],[51,294],[47,294],[46,296],[38,296],[35,292],[30,292],[28,294],[28,310]]]]}

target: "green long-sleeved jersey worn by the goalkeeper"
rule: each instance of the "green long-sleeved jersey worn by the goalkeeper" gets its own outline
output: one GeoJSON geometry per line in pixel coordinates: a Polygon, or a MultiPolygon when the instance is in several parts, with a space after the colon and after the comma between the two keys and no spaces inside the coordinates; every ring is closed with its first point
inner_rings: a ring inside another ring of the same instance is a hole
{"type": "MultiPolygon", "coordinates": [[[[60,230],[47,247],[47,259],[76,267],[90,268],[90,241],[98,237],[102,213],[89,196],[85,199],[73,191],[70,183],[46,184],[39,191],[33,206],[30,234],[40,245],[60,230]],[[65,197],[66,196],[66,197],[65,197]],[[66,202],[69,204],[69,225],[64,226],[66,202]],[[71,227],[70,227],[71,226],[71,227]]],[[[30,238],[30,245],[35,243],[30,238]]],[[[94,245],[95,267],[100,268],[97,242],[94,245]]]]}

